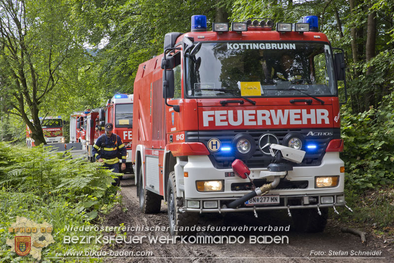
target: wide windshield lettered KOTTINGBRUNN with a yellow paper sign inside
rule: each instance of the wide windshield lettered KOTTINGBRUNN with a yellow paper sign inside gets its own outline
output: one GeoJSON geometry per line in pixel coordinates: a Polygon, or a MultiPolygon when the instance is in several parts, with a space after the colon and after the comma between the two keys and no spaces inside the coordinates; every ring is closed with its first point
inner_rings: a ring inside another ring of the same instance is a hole
{"type": "Polygon", "coordinates": [[[188,97],[337,94],[331,49],[319,42],[208,42],[186,57],[188,97]]]}

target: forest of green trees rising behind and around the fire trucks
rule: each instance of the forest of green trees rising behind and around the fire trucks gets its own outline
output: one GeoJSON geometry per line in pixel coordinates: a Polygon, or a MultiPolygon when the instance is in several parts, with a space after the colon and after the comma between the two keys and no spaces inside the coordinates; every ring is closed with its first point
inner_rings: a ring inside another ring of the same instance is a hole
{"type": "Polygon", "coordinates": [[[195,14],[207,16],[208,30],[249,17],[319,17],[319,30],[347,54],[348,203],[369,207],[359,221],[393,232],[393,0],[0,0],[0,141],[24,144],[28,124],[39,142],[39,116],[67,119],[132,93],[138,65],[163,52],[165,33],[189,32],[195,14]]]}

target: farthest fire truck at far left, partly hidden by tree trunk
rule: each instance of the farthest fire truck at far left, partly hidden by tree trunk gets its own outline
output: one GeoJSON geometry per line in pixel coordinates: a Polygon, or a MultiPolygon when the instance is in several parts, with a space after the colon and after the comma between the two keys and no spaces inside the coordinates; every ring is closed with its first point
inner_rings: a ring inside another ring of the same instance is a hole
{"type": "MultiPolygon", "coordinates": [[[[46,116],[45,118],[39,117],[41,122],[42,132],[44,133],[45,142],[47,144],[60,144],[65,143],[63,136],[63,120],[61,116],[46,116]]],[[[33,121],[33,120],[30,120],[33,121]]],[[[26,145],[31,148],[34,147],[34,140],[30,137],[31,131],[26,125],[26,145]]]]}

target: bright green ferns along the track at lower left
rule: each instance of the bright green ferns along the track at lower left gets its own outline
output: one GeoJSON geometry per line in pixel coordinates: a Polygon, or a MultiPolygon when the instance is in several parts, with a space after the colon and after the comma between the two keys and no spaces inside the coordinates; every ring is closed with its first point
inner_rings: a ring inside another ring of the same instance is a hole
{"type": "MultiPolygon", "coordinates": [[[[42,147],[30,150],[0,142],[0,222],[3,229],[15,222],[16,216],[36,223],[53,225],[55,243],[43,249],[42,257],[63,255],[67,250],[98,250],[95,244],[63,244],[70,235],[66,225],[97,223],[99,213],[107,212],[119,200],[111,185],[114,174],[99,163],[71,159],[66,153],[49,152],[42,147]],[[57,254],[59,253],[59,254],[57,254]]],[[[97,235],[81,231],[78,235],[97,235]]],[[[0,262],[23,261],[5,245],[12,235],[0,231],[0,262]]],[[[33,261],[32,258],[28,258],[33,261]]]]}

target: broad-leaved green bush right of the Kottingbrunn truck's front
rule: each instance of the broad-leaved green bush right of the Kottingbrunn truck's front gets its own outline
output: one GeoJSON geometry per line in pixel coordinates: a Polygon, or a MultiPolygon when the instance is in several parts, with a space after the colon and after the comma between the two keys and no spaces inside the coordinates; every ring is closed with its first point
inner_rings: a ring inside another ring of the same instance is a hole
{"type": "Polygon", "coordinates": [[[377,188],[394,182],[394,95],[377,109],[342,113],[342,158],[349,188],[377,188]]]}

